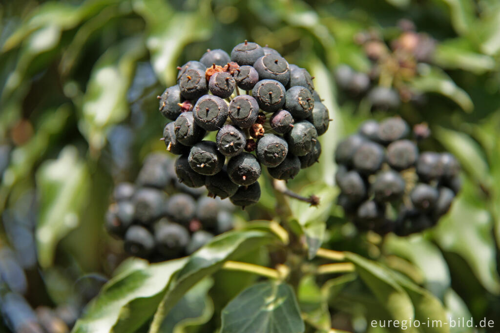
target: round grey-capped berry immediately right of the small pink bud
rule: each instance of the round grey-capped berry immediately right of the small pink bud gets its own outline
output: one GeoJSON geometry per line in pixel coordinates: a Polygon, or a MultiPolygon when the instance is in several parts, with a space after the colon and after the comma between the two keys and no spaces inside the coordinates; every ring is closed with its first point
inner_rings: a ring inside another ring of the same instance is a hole
{"type": "Polygon", "coordinates": [[[217,130],[227,119],[228,107],[222,98],[204,95],[194,105],[192,113],[196,125],[205,130],[217,130]]]}

